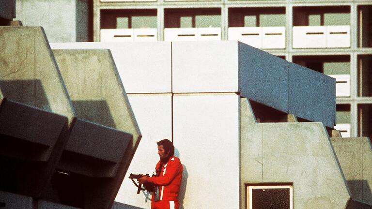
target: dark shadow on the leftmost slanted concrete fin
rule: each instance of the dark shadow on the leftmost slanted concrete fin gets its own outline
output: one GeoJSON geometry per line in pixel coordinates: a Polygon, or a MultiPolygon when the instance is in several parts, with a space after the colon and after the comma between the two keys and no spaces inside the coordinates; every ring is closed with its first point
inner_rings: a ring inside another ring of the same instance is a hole
{"type": "Polygon", "coordinates": [[[50,111],[50,105],[40,80],[0,80],[4,97],[11,101],[50,111]]]}

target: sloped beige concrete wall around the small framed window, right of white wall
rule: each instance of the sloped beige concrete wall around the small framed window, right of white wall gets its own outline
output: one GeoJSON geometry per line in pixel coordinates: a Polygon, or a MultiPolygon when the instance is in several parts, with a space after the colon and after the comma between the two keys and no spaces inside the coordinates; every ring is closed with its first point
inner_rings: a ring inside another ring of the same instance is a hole
{"type": "Polygon", "coordinates": [[[322,123],[256,123],[241,99],[241,208],[246,185],[293,185],[295,209],[344,209],[351,198],[322,123]]]}

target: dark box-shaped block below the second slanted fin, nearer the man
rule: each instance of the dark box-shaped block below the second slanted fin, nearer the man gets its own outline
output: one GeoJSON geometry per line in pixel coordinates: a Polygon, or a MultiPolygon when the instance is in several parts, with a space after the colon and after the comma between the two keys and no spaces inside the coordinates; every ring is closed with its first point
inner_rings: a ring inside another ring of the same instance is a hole
{"type": "Polygon", "coordinates": [[[132,134],[77,119],[58,168],[84,176],[114,178],[131,140],[132,134]],[[75,159],[68,158],[69,153],[75,153],[75,159]],[[85,162],[87,157],[90,163],[85,162]]]}

